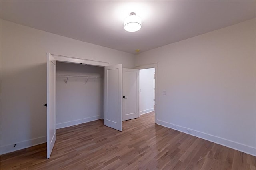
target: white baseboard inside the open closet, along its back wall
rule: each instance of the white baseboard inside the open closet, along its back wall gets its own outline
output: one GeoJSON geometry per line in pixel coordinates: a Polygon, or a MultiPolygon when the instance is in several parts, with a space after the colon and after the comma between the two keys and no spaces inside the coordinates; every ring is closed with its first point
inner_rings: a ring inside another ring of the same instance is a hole
{"type": "Polygon", "coordinates": [[[90,122],[90,121],[96,121],[96,120],[102,119],[102,118],[103,118],[103,115],[97,115],[97,116],[92,116],[92,117],[86,117],[84,119],[78,119],[78,120],[74,120],[74,121],[58,123],[58,124],[56,124],[56,129],[70,127],[70,126],[74,126],[74,125],[78,125],[78,124],[86,123],[86,122],[90,122]]]}

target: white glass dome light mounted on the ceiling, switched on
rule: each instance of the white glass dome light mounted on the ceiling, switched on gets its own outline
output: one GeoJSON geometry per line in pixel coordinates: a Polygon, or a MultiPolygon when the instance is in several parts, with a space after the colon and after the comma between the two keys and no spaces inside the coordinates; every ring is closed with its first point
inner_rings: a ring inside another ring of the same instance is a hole
{"type": "Polygon", "coordinates": [[[141,18],[136,16],[135,12],[131,12],[130,16],[124,19],[124,30],[128,32],[136,32],[141,28],[141,18]]]}

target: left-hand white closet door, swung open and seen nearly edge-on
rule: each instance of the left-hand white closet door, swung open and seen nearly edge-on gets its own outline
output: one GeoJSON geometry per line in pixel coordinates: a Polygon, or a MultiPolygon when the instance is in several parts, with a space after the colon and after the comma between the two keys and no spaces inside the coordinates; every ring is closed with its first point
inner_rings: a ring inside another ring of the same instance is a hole
{"type": "Polygon", "coordinates": [[[56,60],[47,53],[47,159],[56,141],[56,60]]]}

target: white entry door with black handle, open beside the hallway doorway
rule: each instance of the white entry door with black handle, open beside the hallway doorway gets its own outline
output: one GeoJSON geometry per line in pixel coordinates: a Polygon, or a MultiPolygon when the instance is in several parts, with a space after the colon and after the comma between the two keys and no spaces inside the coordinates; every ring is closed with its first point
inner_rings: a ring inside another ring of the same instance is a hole
{"type": "Polygon", "coordinates": [[[139,117],[139,70],[123,69],[122,120],[139,117]]]}

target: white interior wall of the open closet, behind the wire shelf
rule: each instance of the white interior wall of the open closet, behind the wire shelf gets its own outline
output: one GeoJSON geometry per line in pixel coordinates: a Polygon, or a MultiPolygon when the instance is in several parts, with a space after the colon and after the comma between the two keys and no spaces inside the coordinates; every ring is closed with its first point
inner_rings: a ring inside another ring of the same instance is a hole
{"type": "Polygon", "coordinates": [[[103,118],[103,68],[57,62],[57,75],[87,75],[101,79],[56,77],[56,128],[103,118]],[[65,80],[65,81],[64,81],[65,80]]]}

